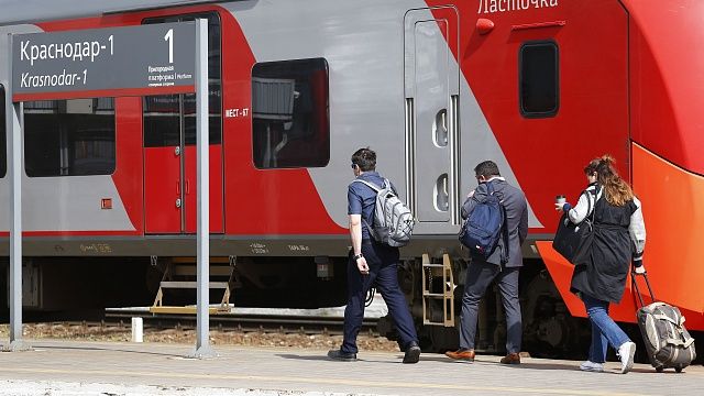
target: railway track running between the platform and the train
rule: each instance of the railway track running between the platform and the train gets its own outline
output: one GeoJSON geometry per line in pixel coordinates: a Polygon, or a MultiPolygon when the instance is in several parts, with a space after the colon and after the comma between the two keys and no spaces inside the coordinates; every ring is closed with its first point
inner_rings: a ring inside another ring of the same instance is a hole
{"type": "MultiPolygon", "coordinates": [[[[147,310],[106,309],[105,323],[123,323],[129,327],[132,318],[142,318],[145,328],[195,329],[195,315],[151,314],[147,310]]],[[[365,318],[361,333],[378,336],[377,318],[365,318]]],[[[302,334],[342,334],[343,318],[280,314],[224,314],[211,315],[210,328],[242,332],[280,332],[302,334]]]]}

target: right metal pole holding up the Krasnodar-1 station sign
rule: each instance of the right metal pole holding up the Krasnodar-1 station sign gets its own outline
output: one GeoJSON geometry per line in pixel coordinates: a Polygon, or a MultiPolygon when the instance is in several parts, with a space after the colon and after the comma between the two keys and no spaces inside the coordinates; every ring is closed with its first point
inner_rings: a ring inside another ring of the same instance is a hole
{"type": "Polygon", "coordinates": [[[196,145],[198,161],[198,298],[196,351],[193,358],[211,358],[210,348],[210,185],[208,158],[208,20],[196,20],[196,145]]]}

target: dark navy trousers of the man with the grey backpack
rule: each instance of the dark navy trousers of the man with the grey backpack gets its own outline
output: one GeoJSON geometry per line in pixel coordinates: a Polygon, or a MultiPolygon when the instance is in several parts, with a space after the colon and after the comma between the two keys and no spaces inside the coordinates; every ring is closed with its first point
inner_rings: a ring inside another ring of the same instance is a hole
{"type": "Polygon", "coordinates": [[[418,342],[408,302],[398,287],[398,249],[364,241],[362,254],[370,266],[369,275],[360,274],[351,255],[348,262],[348,306],[344,309],[344,340],[340,350],[344,353],[358,352],[356,334],[364,318],[364,299],[372,286],[376,286],[384,297],[398,330],[400,344],[406,348],[411,341],[418,342]]]}

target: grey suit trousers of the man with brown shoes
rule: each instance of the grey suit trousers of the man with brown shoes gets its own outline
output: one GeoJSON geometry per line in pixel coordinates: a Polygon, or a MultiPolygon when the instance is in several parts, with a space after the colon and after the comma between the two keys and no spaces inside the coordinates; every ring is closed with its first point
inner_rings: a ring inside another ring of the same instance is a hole
{"type": "Polygon", "coordinates": [[[473,261],[470,264],[462,296],[461,349],[474,349],[479,305],[486,288],[496,278],[506,312],[506,351],[507,353],[520,352],[522,324],[518,300],[519,271],[520,267],[502,268],[496,264],[480,261],[473,261]]]}

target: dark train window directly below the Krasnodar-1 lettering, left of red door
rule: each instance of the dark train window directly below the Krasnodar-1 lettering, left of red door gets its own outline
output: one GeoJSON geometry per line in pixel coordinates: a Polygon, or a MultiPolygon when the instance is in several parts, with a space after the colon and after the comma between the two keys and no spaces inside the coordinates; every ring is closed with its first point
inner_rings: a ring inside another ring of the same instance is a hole
{"type": "Polygon", "coordinates": [[[24,102],[26,175],[111,175],[114,125],[113,98],[24,102]]]}

